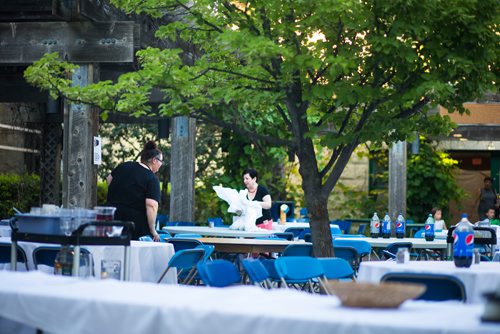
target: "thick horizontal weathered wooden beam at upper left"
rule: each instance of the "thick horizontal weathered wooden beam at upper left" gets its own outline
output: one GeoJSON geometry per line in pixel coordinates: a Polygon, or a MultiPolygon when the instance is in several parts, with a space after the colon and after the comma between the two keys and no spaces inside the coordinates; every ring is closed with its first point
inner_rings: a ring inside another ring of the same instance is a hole
{"type": "Polygon", "coordinates": [[[137,31],[134,22],[0,23],[0,64],[30,64],[56,51],[75,63],[131,63],[137,31]]]}

